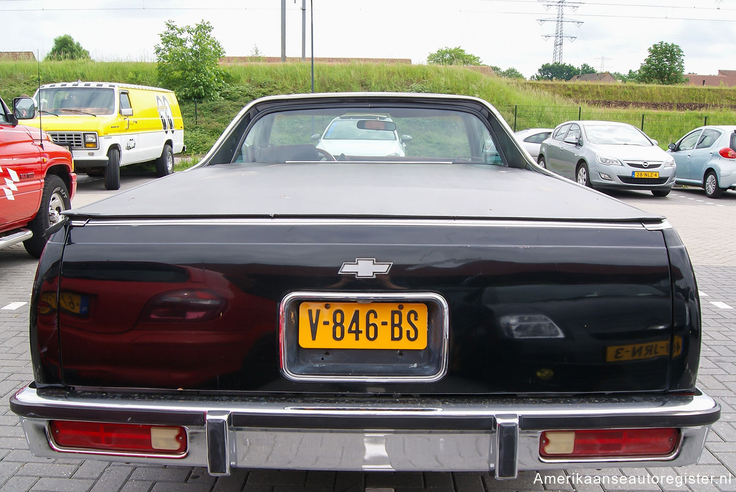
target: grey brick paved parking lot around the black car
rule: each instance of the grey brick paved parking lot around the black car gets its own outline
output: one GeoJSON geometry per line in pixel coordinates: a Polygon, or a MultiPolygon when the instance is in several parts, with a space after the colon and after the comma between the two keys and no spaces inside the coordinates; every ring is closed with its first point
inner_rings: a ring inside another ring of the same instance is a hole
{"type": "MultiPolygon", "coordinates": [[[[147,180],[124,177],[123,188],[147,180]]],[[[82,177],[74,205],[113,193],[103,188],[102,179],[82,177]]],[[[697,465],[567,470],[540,476],[525,472],[513,482],[499,482],[489,474],[267,470],[238,470],[230,477],[214,478],[203,468],[32,457],[8,399],[32,379],[27,302],[37,261],[22,246],[14,246],[0,252],[0,491],[736,491],[736,414],[731,406],[736,405],[736,241],[731,229],[736,224],[736,193],[725,193],[718,200],[708,199],[702,190],[682,188],[666,198],[643,192],[614,196],[665,215],[695,265],[704,326],[698,385],[723,408],[697,465]],[[604,476],[618,477],[618,484],[611,485],[613,480],[603,486],[591,483],[604,476]],[[622,477],[626,485],[621,484],[622,477]]]]}

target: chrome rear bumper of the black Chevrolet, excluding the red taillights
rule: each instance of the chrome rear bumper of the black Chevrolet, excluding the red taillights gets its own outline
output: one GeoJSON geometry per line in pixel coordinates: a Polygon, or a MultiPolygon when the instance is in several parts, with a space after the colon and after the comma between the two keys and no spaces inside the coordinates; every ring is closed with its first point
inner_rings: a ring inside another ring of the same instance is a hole
{"type": "Polygon", "coordinates": [[[49,444],[49,420],[180,425],[184,457],[93,454],[96,460],[231,468],[353,471],[518,471],[696,463],[721,407],[694,396],[287,399],[80,393],[28,386],[10,399],[31,452],[69,457],[49,444]],[[669,457],[545,460],[539,435],[556,429],[678,427],[669,457]]]}

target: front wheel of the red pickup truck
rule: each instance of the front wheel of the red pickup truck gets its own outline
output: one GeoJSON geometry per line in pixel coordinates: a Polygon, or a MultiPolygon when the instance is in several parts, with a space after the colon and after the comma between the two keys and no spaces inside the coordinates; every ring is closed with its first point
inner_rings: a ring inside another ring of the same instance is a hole
{"type": "Polygon", "coordinates": [[[64,217],[61,213],[71,208],[71,200],[69,200],[69,192],[63,179],[56,174],[48,174],[43,180],[43,195],[41,196],[41,205],[32,221],[28,224],[28,228],[33,232],[33,237],[24,240],[23,246],[32,256],[40,257],[46,241],[49,240],[49,229],[55,226],[64,217]]]}

